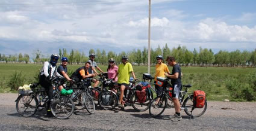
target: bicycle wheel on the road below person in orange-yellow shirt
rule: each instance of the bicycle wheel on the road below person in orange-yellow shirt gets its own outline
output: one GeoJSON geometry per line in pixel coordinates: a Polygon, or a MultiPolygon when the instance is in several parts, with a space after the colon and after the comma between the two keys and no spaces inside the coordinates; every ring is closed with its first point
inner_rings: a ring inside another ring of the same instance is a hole
{"type": "Polygon", "coordinates": [[[151,115],[151,117],[160,116],[164,112],[164,109],[166,109],[166,105],[167,105],[167,98],[164,96],[157,96],[157,98],[152,100],[149,106],[149,114],[151,115]],[[157,103],[157,99],[160,99],[158,103],[157,103]]]}

